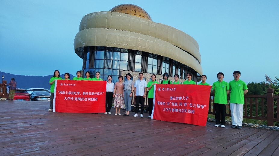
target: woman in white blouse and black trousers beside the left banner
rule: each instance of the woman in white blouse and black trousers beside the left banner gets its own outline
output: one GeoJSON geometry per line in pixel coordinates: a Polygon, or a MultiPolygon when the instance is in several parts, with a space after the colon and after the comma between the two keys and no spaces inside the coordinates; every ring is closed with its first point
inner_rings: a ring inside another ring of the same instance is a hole
{"type": "Polygon", "coordinates": [[[114,90],[114,83],[111,82],[112,77],[109,75],[107,77],[107,86],[106,86],[106,112],[105,114],[111,114],[110,109],[112,106],[112,99],[113,99],[113,90],[114,90]]]}

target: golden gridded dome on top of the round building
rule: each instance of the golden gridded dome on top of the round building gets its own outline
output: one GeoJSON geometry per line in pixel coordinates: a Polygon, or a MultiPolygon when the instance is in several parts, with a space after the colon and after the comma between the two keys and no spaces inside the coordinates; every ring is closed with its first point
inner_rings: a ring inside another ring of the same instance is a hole
{"type": "Polygon", "coordinates": [[[150,21],[152,21],[151,17],[145,10],[143,10],[141,7],[136,6],[134,4],[117,5],[117,6],[113,7],[112,9],[110,9],[109,11],[126,13],[126,14],[129,14],[132,16],[149,19],[150,21]]]}

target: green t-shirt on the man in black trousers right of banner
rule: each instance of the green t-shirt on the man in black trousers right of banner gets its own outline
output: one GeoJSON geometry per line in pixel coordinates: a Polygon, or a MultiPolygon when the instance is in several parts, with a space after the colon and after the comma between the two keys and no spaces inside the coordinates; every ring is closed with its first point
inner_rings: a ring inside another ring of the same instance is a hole
{"type": "Polygon", "coordinates": [[[230,90],[228,82],[216,81],[212,85],[212,90],[214,90],[214,103],[217,103],[217,104],[228,104],[228,101],[227,101],[227,90],[230,90]]]}

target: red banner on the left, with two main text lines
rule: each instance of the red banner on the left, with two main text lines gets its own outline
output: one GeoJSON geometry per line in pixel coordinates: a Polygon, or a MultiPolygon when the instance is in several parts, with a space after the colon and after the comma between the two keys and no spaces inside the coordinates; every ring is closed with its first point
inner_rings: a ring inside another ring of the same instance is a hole
{"type": "Polygon", "coordinates": [[[64,113],[104,113],[106,81],[57,80],[53,111],[64,113]]]}

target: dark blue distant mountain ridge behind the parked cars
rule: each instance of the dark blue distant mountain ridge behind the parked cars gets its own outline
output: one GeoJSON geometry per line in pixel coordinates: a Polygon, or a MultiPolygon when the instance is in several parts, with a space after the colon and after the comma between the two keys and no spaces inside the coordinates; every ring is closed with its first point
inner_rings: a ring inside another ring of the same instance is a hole
{"type": "MultiPolygon", "coordinates": [[[[53,75],[47,76],[25,76],[25,75],[14,75],[10,73],[0,72],[0,79],[2,83],[2,75],[5,76],[4,80],[9,83],[11,78],[14,78],[17,82],[17,88],[46,88],[50,89],[49,80],[53,75]]],[[[64,78],[64,74],[60,75],[61,78],[64,78]]],[[[70,78],[72,79],[73,76],[70,74],[70,78]]]]}

